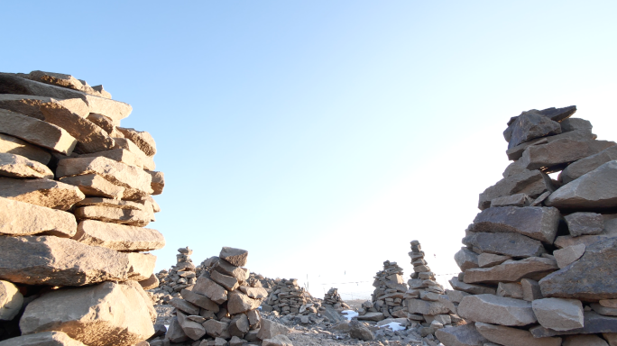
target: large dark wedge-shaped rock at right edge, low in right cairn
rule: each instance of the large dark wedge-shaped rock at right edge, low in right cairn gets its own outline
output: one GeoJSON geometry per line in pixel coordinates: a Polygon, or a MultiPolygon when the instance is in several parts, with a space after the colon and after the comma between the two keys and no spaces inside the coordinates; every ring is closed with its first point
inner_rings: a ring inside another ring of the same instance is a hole
{"type": "Polygon", "coordinates": [[[600,300],[617,298],[617,238],[597,241],[564,269],[539,281],[546,297],[600,300]]]}

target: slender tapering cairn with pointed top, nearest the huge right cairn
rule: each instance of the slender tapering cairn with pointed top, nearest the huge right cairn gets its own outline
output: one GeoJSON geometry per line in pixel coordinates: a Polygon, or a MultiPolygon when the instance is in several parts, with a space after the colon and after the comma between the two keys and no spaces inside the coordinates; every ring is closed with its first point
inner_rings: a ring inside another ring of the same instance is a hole
{"type": "Polygon", "coordinates": [[[408,281],[410,289],[405,293],[407,318],[421,324],[420,335],[434,334],[438,329],[452,326],[452,323],[460,323],[461,318],[447,307],[450,304],[444,296],[446,291],[435,281],[435,274],[424,259],[419,241],[411,241],[410,258],[414,272],[408,281]],[[432,304],[440,300],[446,304],[432,304]]]}

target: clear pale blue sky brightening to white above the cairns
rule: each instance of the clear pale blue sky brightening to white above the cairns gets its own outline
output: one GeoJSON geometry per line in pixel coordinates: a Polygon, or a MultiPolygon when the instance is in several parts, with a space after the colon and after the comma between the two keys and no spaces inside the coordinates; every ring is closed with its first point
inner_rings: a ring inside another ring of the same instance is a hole
{"type": "Polygon", "coordinates": [[[369,298],[419,240],[442,284],[508,165],[502,131],[577,105],[614,140],[613,1],[2,2],[0,69],[103,84],[152,133],[148,225],[196,264],[223,246],[313,296],[369,298]],[[8,15],[6,15],[8,14],[8,15]]]}

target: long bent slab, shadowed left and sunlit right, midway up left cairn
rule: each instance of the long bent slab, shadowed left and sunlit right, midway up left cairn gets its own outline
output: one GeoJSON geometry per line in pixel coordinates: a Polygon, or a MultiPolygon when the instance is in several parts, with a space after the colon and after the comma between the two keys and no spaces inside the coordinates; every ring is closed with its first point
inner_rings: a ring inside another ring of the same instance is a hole
{"type": "Polygon", "coordinates": [[[125,199],[137,199],[152,194],[152,177],[143,169],[107,158],[60,159],[56,178],[97,174],[112,184],[124,187],[125,199]]]}

